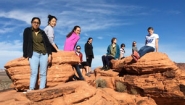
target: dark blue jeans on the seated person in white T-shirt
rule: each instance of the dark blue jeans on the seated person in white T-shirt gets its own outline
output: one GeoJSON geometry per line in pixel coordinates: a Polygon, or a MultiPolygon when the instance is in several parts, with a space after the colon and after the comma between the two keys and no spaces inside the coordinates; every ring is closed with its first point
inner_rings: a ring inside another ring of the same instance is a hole
{"type": "Polygon", "coordinates": [[[140,48],[140,50],[138,51],[138,53],[139,53],[140,57],[142,57],[146,53],[154,52],[154,51],[155,51],[155,48],[153,48],[153,47],[143,46],[143,47],[140,48]]]}

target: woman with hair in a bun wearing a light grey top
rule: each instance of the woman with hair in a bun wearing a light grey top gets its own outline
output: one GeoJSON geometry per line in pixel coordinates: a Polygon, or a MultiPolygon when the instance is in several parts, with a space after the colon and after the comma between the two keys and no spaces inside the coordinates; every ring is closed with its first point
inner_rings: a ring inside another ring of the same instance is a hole
{"type": "Polygon", "coordinates": [[[57,45],[54,42],[54,27],[56,26],[57,18],[52,15],[48,15],[48,26],[44,28],[46,35],[48,36],[49,42],[51,43],[51,51],[58,52],[60,51],[57,45]]]}

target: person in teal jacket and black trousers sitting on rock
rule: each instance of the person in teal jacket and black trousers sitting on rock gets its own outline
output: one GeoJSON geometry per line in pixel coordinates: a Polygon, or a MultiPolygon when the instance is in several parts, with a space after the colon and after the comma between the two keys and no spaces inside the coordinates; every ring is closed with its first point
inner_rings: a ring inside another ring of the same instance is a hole
{"type": "Polygon", "coordinates": [[[111,44],[107,48],[107,54],[102,56],[102,62],[103,62],[102,70],[110,69],[110,61],[112,59],[119,59],[120,48],[116,42],[117,42],[116,38],[112,38],[111,44]]]}

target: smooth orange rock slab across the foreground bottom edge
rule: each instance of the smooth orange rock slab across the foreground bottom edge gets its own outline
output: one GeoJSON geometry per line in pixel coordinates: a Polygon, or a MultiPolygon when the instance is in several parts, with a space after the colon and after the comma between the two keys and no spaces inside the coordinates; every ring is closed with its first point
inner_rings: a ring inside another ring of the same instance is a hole
{"type": "Polygon", "coordinates": [[[10,91],[1,96],[6,97],[0,98],[1,105],[156,105],[151,98],[118,93],[108,88],[96,89],[84,81],[60,84],[26,94],[10,91]]]}

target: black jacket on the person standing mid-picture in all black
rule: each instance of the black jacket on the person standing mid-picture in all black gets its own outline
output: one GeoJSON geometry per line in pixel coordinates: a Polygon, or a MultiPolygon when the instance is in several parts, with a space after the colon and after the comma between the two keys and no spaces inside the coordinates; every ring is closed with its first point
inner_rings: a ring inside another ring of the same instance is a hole
{"type": "Polygon", "coordinates": [[[92,58],[94,58],[93,46],[92,44],[89,44],[88,42],[85,44],[85,55],[86,57],[91,56],[92,58]]]}

